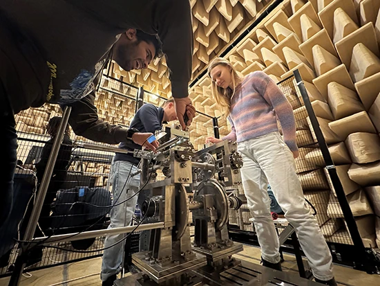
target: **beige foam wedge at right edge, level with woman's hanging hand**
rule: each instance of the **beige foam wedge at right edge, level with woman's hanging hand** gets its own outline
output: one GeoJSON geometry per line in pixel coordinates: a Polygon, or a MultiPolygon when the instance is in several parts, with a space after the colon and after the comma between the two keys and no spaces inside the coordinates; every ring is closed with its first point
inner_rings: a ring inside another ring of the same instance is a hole
{"type": "Polygon", "coordinates": [[[357,132],[345,140],[354,163],[372,163],[380,160],[380,137],[378,134],[357,132]]]}

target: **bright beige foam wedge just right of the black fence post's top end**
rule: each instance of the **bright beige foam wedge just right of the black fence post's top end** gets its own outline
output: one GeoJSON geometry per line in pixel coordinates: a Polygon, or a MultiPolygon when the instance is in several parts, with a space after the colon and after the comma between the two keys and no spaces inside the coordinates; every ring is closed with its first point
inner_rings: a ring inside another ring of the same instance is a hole
{"type": "Polygon", "coordinates": [[[331,71],[341,64],[341,60],[332,53],[329,53],[319,45],[315,45],[312,48],[314,58],[314,70],[317,76],[331,71]]]}

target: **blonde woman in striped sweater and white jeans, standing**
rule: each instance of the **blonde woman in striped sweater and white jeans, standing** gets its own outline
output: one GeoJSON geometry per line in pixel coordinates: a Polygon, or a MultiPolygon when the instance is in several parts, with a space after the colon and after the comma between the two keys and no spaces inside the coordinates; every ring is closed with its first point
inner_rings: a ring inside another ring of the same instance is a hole
{"type": "Polygon", "coordinates": [[[225,109],[231,132],[222,139],[209,137],[206,142],[238,142],[238,151],[243,157],[243,187],[254,219],[263,265],[281,270],[280,244],[267,193],[269,183],[285,217],[296,229],[316,281],[336,285],[330,250],[315,217],[305,206],[296,175],[294,158],[298,157],[298,148],[292,106],[262,71],[240,77],[229,61],[218,57],[209,64],[209,76],[213,96],[225,109]],[[278,132],[277,118],[283,138],[278,132]]]}

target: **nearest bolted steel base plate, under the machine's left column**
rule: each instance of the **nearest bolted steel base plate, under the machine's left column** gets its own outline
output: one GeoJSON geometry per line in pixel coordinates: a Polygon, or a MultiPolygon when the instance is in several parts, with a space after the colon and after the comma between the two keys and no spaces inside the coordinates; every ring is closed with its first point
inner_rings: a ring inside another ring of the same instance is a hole
{"type": "Polygon", "coordinates": [[[154,263],[151,265],[149,261],[145,260],[145,253],[146,251],[134,253],[132,255],[132,261],[139,269],[148,274],[155,283],[162,283],[165,280],[173,278],[173,276],[180,276],[181,274],[207,264],[206,256],[195,253],[196,258],[181,262],[180,264],[171,263],[167,266],[160,266],[158,263],[154,263]]]}

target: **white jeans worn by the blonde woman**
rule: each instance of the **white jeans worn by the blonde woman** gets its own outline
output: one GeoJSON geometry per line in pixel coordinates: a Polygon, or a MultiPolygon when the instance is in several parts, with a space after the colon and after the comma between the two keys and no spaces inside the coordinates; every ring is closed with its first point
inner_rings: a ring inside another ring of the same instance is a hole
{"type": "Polygon", "coordinates": [[[243,187],[263,259],[272,263],[281,260],[278,253],[280,243],[270,214],[270,199],[267,193],[269,183],[285,217],[296,229],[314,277],[321,280],[332,279],[334,274],[330,250],[314,215],[305,206],[292,151],[284,143],[281,135],[272,132],[240,142],[238,151],[243,157],[243,187]]]}

